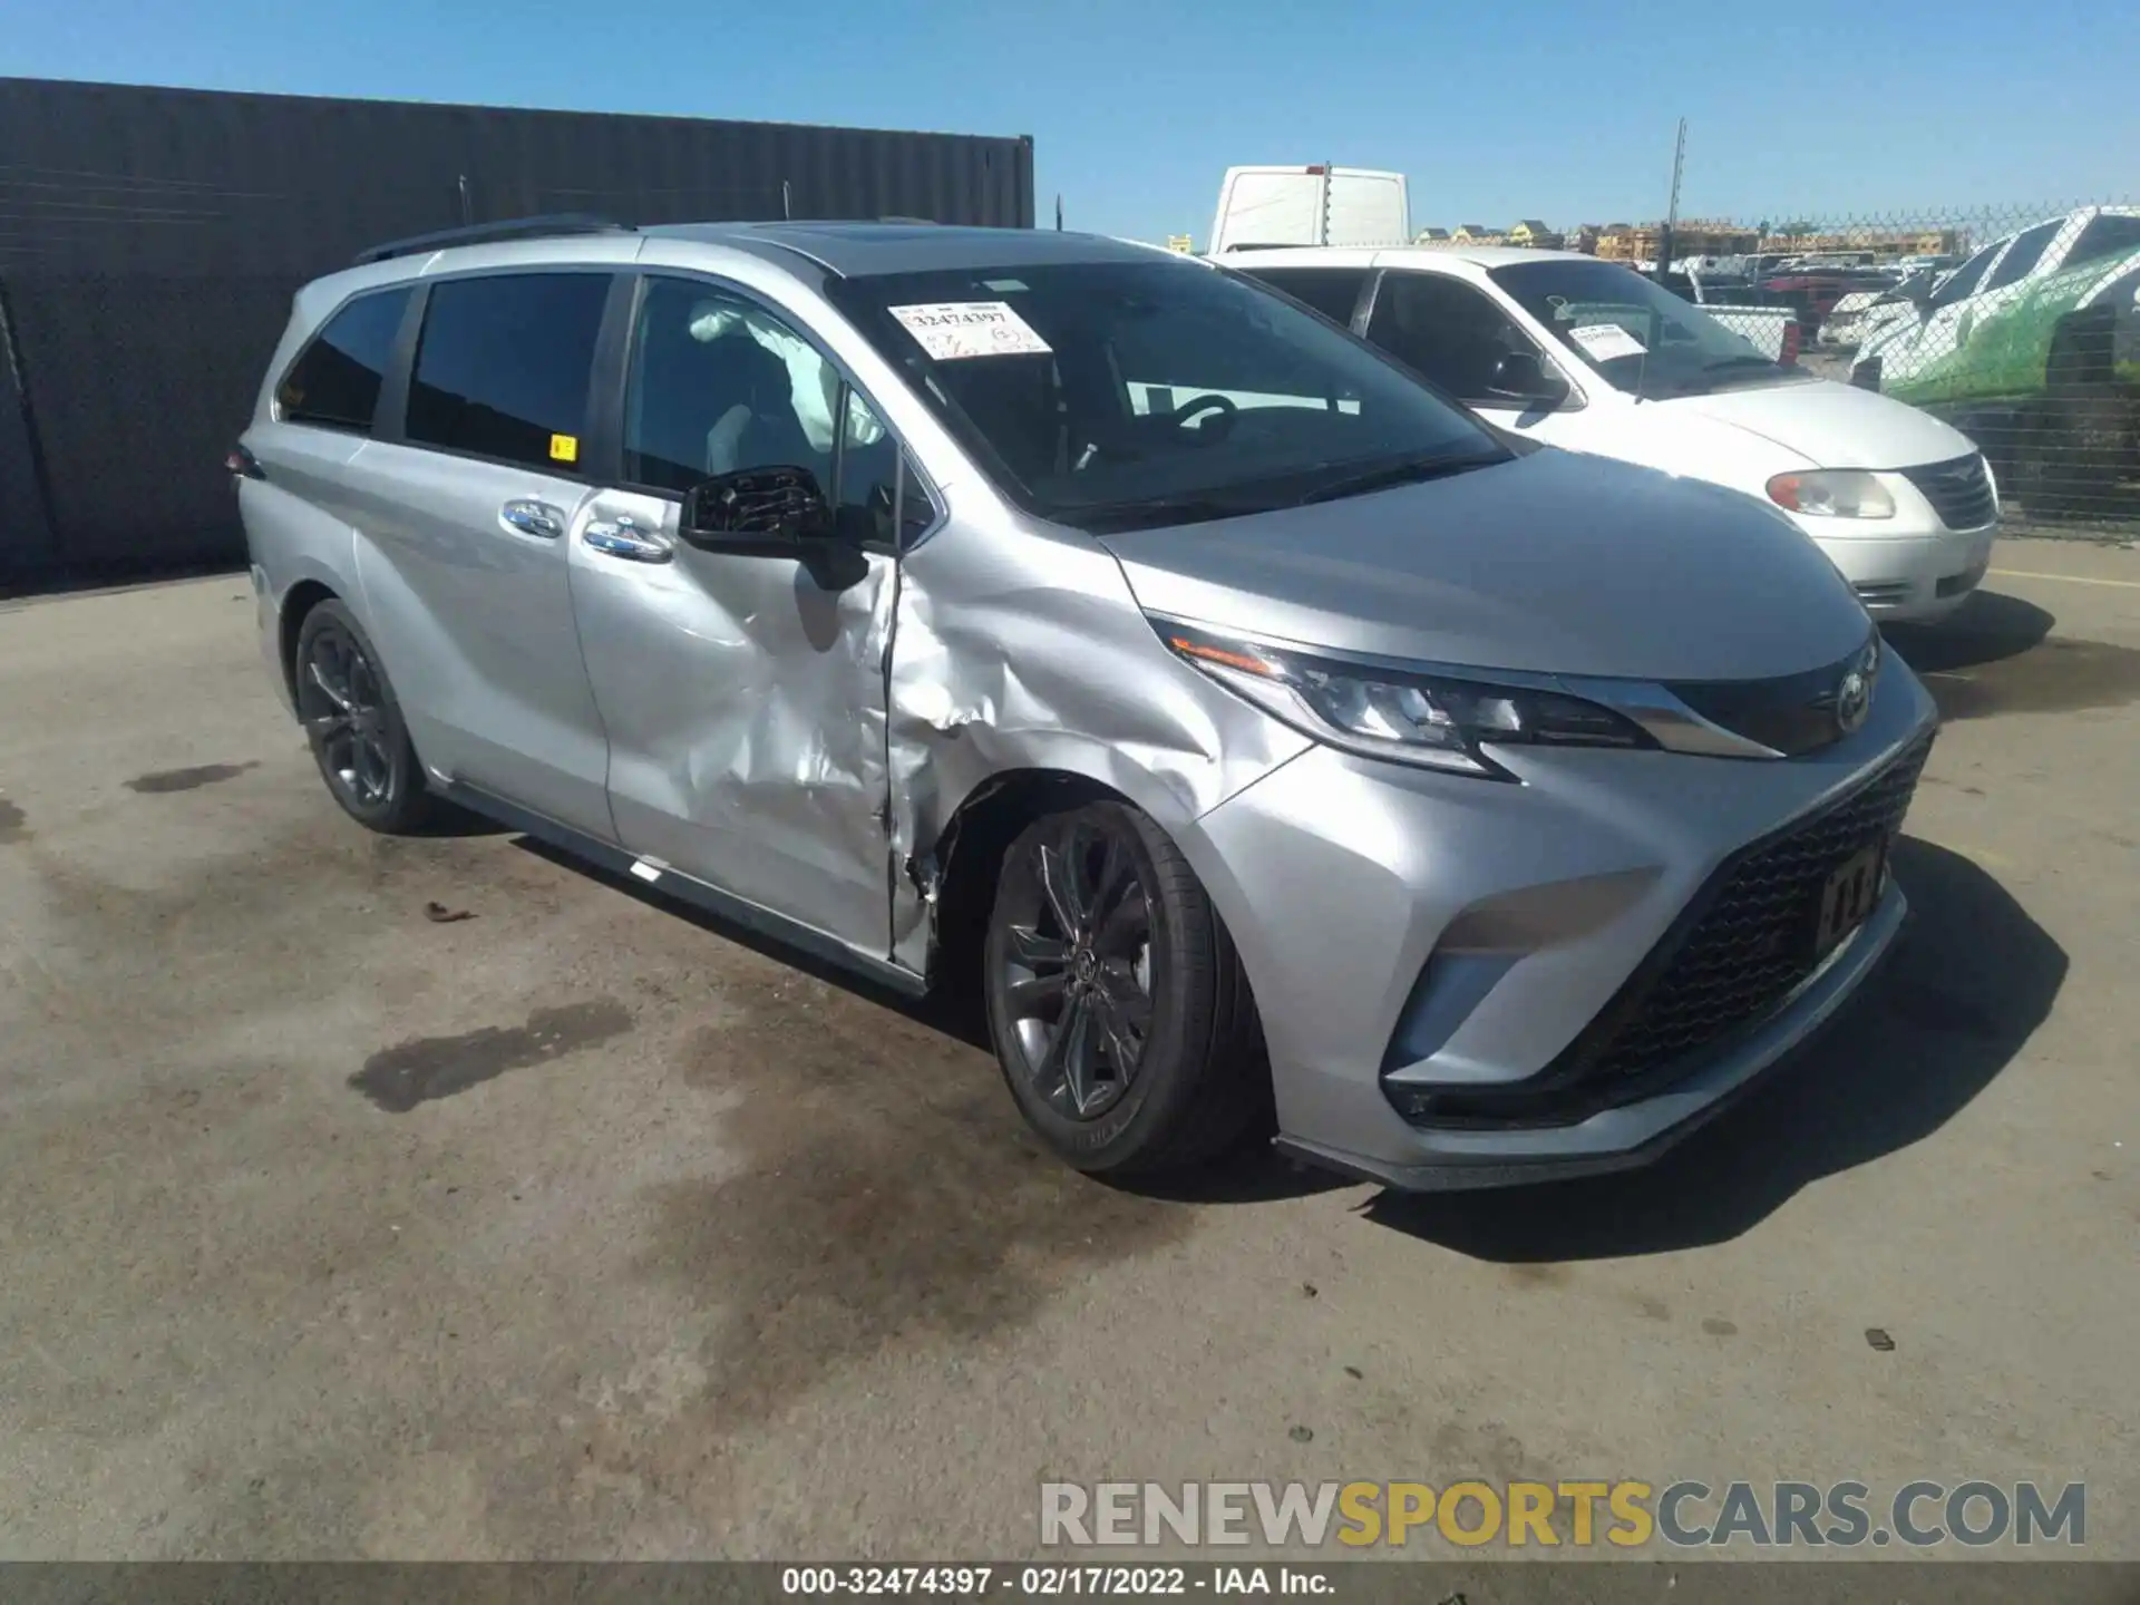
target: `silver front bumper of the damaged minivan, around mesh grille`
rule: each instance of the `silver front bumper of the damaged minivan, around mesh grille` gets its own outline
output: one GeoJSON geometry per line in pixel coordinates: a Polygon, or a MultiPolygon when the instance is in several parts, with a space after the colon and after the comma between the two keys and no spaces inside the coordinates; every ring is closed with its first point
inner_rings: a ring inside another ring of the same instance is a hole
{"type": "Polygon", "coordinates": [[[1932,721],[1890,659],[1866,725],[1793,760],[1526,751],[1509,762],[1524,783],[1507,785],[1318,747],[1250,785],[1183,852],[1256,991],[1280,1141],[1400,1188],[1646,1162],[1840,1006],[1902,920],[1898,888],[1772,1012],[1584,1119],[1412,1124],[1385,1076],[1532,1083],[1725,860],[1855,792],[1932,721]]]}

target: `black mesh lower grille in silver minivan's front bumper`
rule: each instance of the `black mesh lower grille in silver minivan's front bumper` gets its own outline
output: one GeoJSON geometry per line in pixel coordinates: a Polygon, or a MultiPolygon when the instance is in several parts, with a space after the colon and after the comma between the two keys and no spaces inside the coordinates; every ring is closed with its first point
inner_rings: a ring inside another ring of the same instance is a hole
{"type": "Polygon", "coordinates": [[[1924,736],[1849,796],[1727,860],[1547,1070],[1507,1087],[1436,1089],[1410,1117],[1562,1126],[1684,1076],[1701,1049],[1766,1017],[1819,967],[1815,922],[1830,873],[1894,837],[1930,751],[1924,736]]]}

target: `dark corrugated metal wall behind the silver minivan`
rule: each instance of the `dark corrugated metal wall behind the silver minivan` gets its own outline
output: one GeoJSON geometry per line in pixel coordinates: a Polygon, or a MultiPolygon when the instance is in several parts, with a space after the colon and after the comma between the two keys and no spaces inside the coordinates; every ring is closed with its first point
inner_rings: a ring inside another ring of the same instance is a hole
{"type": "Polygon", "coordinates": [[[0,578],[235,561],[223,452],[291,293],[366,244],[541,212],[644,225],[783,203],[1031,227],[1034,148],[0,79],[0,578]]]}

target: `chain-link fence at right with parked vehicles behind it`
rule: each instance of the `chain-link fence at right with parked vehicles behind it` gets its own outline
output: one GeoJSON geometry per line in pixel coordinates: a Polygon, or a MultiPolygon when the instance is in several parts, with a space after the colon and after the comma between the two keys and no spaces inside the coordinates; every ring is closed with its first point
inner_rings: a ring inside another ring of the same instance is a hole
{"type": "Polygon", "coordinates": [[[1791,308],[1804,368],[1982,447],[2007,533],[2140,537],[2140,205],[1703,218],[1564,242],[1661,270],[1748,338],[1791,308]]]}

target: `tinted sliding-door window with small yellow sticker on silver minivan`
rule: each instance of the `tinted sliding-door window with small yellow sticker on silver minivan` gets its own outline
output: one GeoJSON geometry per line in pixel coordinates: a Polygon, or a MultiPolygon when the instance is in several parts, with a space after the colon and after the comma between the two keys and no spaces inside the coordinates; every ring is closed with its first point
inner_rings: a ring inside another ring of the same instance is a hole
{"type": "Polygon", "coordinates": [[[409,439],[578,473],[608,274],[499,274],[430,289],[409,439]]]}

